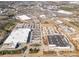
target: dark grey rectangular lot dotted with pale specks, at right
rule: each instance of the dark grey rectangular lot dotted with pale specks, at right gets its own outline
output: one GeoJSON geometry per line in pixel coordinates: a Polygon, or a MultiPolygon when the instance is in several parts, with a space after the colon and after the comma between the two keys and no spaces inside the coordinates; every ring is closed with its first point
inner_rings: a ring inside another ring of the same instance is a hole
{"type": "Polygon", "coordinates": [[[48,36],[49,44],[56,45],[57,47],[67,47],[69,43],[65,40],[63,35],[52,35],[48,36]]]}

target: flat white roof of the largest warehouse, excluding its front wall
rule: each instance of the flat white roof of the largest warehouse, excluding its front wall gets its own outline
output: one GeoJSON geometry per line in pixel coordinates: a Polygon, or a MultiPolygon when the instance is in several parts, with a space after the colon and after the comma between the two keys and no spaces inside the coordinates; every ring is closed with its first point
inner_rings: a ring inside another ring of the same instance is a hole
{"type": "Polygon", "coordinates": [[[14,29],[4,43],[25,43],[27,42],[30,29],[19,28],[14,29]]]}

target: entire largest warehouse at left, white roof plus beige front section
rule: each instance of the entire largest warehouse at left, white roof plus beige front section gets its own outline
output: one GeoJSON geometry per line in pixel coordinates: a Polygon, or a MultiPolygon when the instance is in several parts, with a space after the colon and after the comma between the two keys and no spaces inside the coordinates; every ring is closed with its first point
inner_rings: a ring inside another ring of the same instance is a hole
{"type": "Polygon", "coordinates": [[[20,44],[26,44],[30,40],[31,29],[15,28],[8,38],[4,41],[2,49],[15,49],[20,44]]]}

